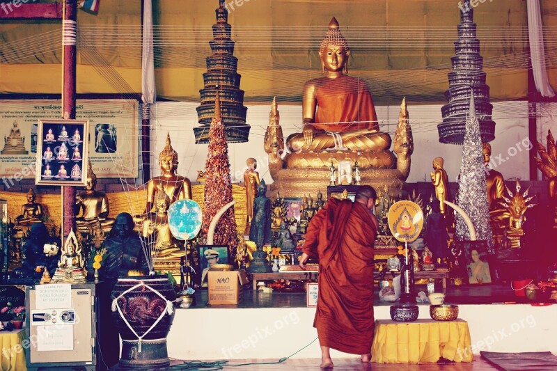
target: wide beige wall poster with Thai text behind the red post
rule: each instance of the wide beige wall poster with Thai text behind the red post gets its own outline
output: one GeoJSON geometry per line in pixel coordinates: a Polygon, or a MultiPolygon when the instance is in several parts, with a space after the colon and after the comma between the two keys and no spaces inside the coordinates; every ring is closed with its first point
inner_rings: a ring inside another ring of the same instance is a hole
{"type": "MultiPolygon", "coordinates": [[[[6,177],[5,187],[36,178],[37,122],[60,117],[60,113],[60,100],[0,100],[0,179],[6,177]]],[[[138,176],[139,113],[136,99],[77,100],[75,118],[89,121],[84,152],[97,178],[138,176]]],[[[73,134],[68,131],[68,136],[73,134]]]]}

